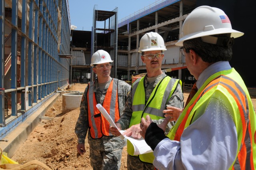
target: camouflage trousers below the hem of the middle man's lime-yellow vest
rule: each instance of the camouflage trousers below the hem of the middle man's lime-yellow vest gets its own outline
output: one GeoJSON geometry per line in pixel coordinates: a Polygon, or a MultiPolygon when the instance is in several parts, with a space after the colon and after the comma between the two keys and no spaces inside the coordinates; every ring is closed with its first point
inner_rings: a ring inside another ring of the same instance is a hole
{"type": "Polygon", "coordinates": [[[155,170],[153,164],[142,162],[138,156],[127,154],[127,170],[155,170]]]}

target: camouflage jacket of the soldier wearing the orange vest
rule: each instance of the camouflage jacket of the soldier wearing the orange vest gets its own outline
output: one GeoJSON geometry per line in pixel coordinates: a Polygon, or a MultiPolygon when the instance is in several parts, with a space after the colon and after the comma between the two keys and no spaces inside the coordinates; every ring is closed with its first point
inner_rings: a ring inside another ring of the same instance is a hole
{"type": "MultiPolygon", "coordinates": [[[[106,92],[108,90],[108,86],[111,82],[112,78],[110,78],[110,81],[106,84],[106,87],[104,90],[100,90],[98,86],[98,80],[96,79],[96,82],[94,84],[93,91],[96,96],[97,102],[100,104],[103,103],[106,92]]],[[[127,84],[126,82],[122,80],[118,80],[118,102],[119,102],[119,112],[120,116],[122,116],[123,112],[122,110],[124,109],[125,102],[128,97],[128,93],[130,92],[131,86],[127,84]]],[[[80,105],[80,114],[78,117],[78,120],[76,122],[76,127],[75,127],[75,133],[76,136],[78,137],[78,143],[84,143],[86,134],[88,132],[88,104],[87,104],[87,90],[88,86],[84,90],[84,100],[81,102],[80,105]]],[[[114,136],[103,136],[100,139],[93,139],[90,137],[90,132],[88,132],[88,143],[90,147],[95,147],[97,148],[99,145],[104,145],[104,148],[106,151],[111,151],[111,150],[116,150],[118,148],[123,148],[126,145],[126,140],[122,140],[120,137],[114,137],[114,136]]]]}

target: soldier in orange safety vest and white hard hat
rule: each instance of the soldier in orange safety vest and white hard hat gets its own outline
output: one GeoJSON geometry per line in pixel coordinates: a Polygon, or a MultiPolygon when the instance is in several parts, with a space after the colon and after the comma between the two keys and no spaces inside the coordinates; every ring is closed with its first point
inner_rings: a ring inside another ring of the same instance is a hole
{"type": "Polygon", "coordinates": [[[82,96],[80,115],[75,127],[78,136],[77,151],[88,152],[84,140],[88,132],[90,164],[94,170],[119,170],[122,150],[126,141],[110,133],[109,122],[100,114],[96,104],[101,104],[113,120],[122,116],[122,110],[131,86],[122,80],[110,77],[111,60],[108,52],[98,50],[92,55],[91,66],[97,74],[89,82],[82,96]]]}

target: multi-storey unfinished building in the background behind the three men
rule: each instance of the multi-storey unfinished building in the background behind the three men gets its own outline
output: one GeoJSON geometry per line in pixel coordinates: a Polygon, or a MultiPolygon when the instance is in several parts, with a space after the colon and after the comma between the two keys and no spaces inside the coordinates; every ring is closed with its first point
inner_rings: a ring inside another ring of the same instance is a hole
{"type": "MultiPolygon", "coordinates": [[[[252,0],[248,2],[255,4],[252,0]]],[[[167,72],[168,76],[180,78],[185,84],[193,84],[194,78],[190,75],[186,67],[184,56],[180,54],[180,47],[175,46],[181,33],[181,27],[185,18],[198,6],[209,5],[223,9],[232,22],[234,29],[244,32],[244,36],[236,41],[233,48],[234,57],[230,61],[244,78],[248,87],[255,88],[256,80],[248,74],[253,72],[253,58],[246,54],[249,50],[244,41],[249,41],[255,36],[254,26],[244,27],[241,22],[250,20],[255,16],[253,9],[248,3],[234,2],[227,0],[225,3],[220,0],[156,0],[153,4],[148,4],[141,10],[129,16],[118,19],[118,36],[116,42],[116,12],[98,10],[94,7],[94,25],[92,31],[71,30],[72,41],[70,45],[72,54],[72,65],[70,81],[88,82],[92,75],[90,67],[90,57],[96,50],[106,50],[112,57],[112,77],[131,81],[132,74],[146,72],[145,64],[142,63],[138,53],[139,40],[147,32],[158,32],[165,42],[167,48],[164,51],[165,57],[162,69],[177,68],[175,71],[167,72]],[[247,14],[250,14],[249,16],[247,14]],[[246,15],[246,17],[245,17],[246,15]],[[103,27],[98,28],[98,22],[104,22],[103,27]],[[117,48],[117,49],[116,49],[117,48]],[[245,50],[240,50],[245,49],[245,50]],[[247,49],[247,50],[246,50],[247,49]],[[117,54],[116,54],[117,51],[117,54]],[[241,57],[245,56],[246,69],[241,66],[241,57]]],[[[251,23],[255,25],[255,23],[251,23]]],[[[174,69],[172,69],[174,70],[174,69]]]]}

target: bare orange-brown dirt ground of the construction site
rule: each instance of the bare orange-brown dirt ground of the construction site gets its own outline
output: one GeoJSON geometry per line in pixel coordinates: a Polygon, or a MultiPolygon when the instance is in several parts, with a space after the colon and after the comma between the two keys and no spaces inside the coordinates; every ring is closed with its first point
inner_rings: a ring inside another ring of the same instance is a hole
{"type": "MultiPolygon", "coordinates": [[[[86,86],[87,84],[76,83],[70,85],[68,90],[84,92],[86,86]]],[[[184,102],[188,98],[188,92],[189,90],[184,90],[184,102]]],[[[254,108],[256,108],[256,97],[251,96],[251,98],[254,108]]],[[[77,137],[74,128],[79,112],[80,108],[76,108],[62,114],[62,96],[60,96],[45,115],[53,118],[53,120],[42,119],[24,144],[12,156],[12,160],[24,164],[36,159],[52,168],[52,170],[92,170],[87,138],[85,142],[86,153],[80,156],[76,151],[77,137]]],[[[127,169],[126,149],[125,146],[120,170],[127,169]]]]}

